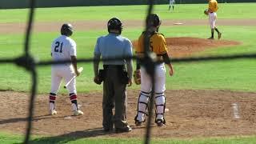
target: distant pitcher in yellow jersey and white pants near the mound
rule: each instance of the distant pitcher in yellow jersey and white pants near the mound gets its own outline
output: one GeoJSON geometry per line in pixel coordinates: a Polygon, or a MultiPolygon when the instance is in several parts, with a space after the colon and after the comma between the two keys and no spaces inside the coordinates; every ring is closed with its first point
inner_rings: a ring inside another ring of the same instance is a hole
{"type": "Polygon", "coordinates": [[[211,30],[211,37],[208,39],[214,39],[214,30],[218,33],[218,39],[222,38],[222,33],[219,32],[217,27],[215,26],[215,22],[217,19],[217,10],[218,10],[218,2],[216,0],[208,0],[208,15],[209,15],[209,22],[210,22],[210,30],[211,30]]]}

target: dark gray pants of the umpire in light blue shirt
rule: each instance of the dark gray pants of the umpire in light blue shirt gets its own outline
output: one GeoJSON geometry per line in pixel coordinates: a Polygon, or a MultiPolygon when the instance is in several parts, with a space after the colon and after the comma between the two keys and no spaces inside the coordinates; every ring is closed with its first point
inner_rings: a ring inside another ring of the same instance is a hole
{"type": "Polygon", "coordinates": [[[103,82],[103,128],[113,129],[127,127],[126,122],[126,84],[118,78],[118,68],[109,66],[103,82]],[[114,114],[112,109],[115,107],[114,114]]]}

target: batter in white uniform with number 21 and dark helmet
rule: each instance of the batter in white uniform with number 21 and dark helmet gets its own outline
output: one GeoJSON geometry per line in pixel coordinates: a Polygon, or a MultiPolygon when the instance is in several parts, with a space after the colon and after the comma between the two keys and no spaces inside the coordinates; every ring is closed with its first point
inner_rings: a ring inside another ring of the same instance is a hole
{"type": "MultiPolygon", "coordinates": [[[[76,43],[70,38],[73,34],[73,26],[69,23],[63,24],[61,34],[61,36],[52,42],[51,57],[53,61],[70,59],[72,63],[53,65],[51,67],[51,90],[49,96],[49,110],[51,115],[57,114],[55,100],[62,78],[64,78],[66,82],[70,82],[75,75],[78,76],[80,74],[77,68],[76,43]]],[[[70,101],[72,103],[74,115],[82,115],[83,112],[78,108],[75,78],[66,88],[70,94],[70,101]]]]}

